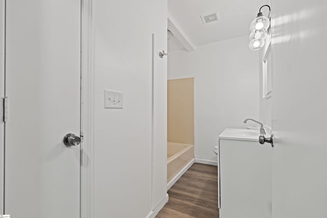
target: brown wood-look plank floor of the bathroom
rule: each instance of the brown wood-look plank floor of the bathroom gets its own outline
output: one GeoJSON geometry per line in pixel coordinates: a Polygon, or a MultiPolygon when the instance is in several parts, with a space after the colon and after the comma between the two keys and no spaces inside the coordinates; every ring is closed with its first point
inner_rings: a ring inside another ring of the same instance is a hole
{"type": "Polygon", "coordinates": [[[195,163],[168,191],[157,218],[219,217],[217,166],[195,163]]]}

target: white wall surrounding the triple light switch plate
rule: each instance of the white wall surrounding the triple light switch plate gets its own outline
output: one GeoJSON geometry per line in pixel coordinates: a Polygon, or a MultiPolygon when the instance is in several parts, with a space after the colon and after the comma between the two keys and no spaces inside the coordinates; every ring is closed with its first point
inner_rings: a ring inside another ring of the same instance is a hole
{"type": "MultiPolygon", "coordinates": [[[[164,180],[155,189],[159,197],[153,196],[151,184],[152,155],[156,156],[151,143],[152,33],[155,50],[167,51],[167,0],[95,0],[94,28],[95,217],[146,217],[156,206],[152,202],[162,200],[167,190],[164,180]],[[123,92],[124,108],[104,109],[104,89],[123,92]]],[[[160,89],[155,106],[161,109],[155,108],[155,119],[165,129],[166,59],[155,61],[162,65],[156,71],[155,87],[160,89]]],[[[154,133],[154,141],[162,139],[159,149],[166,151],[167,132],[154,133]]],[[[166,153],[156,157],[165,160],[156,165],[156,175],[165,179],[166,153]]]]}

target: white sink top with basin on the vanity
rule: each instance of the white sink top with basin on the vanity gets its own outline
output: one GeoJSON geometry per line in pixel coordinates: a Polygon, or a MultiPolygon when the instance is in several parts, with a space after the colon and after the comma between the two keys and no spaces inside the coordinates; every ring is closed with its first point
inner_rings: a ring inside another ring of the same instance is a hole
{"type": "Polygon", "coordinates": [[[260,131],[251,129],[225,129],[219,139],[259,141],[260,131]]]}

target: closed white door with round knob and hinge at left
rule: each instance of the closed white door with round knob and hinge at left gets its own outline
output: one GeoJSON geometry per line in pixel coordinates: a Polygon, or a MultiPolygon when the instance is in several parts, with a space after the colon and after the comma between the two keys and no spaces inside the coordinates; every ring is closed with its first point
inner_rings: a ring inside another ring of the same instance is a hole
{"type": "Polygon", "coordinates": [[[6,3],[5,213],[80,217],[80,0],[6,3]]]}

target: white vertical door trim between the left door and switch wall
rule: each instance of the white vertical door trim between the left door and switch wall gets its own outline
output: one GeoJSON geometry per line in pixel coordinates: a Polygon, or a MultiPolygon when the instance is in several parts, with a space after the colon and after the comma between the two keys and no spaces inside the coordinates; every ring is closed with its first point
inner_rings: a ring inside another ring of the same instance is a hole
{"type": "Polygon", "coordinates": [[[94,217],[93,0],[81,0],[81,202],[80,217],[94,217]]]}

